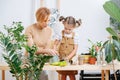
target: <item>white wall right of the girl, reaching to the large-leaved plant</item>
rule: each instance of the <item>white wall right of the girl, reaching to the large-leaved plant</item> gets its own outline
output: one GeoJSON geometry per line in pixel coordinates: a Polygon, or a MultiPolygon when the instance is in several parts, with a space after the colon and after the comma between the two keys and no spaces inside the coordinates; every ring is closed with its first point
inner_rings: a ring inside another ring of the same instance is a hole
{"type": "Polygon", "coordinates": [[[105,0],[61,0],[61,15],[82,19],[82,25],[77,29],[80,36],[78,53],[88,52],[88,39],[93,42],[107,39],[105,28],[109,25],[109,16],[103,9],[104,2],[105,0]]]}

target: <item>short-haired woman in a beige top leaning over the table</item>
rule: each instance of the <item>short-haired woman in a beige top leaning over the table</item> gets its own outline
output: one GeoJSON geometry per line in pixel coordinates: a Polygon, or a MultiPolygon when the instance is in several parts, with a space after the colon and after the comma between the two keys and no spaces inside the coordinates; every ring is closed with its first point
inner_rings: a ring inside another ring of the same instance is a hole
{"type": "MultiPolygon", "coordinates": [[[[50,17],[50,10],[46,7],[39,8],[36,12],[36,23],[28,26],[25,30],[27,36],[27,43],[29,46],[36,45],[36,54],[55,55],[57,52],[50,49],[50,41],[52,36],[52,29],[48,27],[50,17]]],[[[28,55],[26,53],[25,55],[28,55]]],[[[40,80],[48,80],[48,76],[43,71],[40,80]]]]}

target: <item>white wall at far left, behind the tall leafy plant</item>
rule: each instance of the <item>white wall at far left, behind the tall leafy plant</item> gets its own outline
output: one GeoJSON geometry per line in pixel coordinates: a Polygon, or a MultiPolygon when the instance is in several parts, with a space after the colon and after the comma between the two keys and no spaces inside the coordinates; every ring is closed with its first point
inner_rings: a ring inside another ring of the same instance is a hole
{"type": "MultiPolygon", "coordinates": [[[[26,27],[32,23],[32,0],[0,0],[0,31],[3,25],[10,26],[13,21],[21,21],[26,27]]],[[[0,62],[3,62],[0,49],[0,62]]],[[[15,80],[6,71],[6,80],[15,80]]],[[[1,80],[1,71],[0,71],[1,80]]]]}

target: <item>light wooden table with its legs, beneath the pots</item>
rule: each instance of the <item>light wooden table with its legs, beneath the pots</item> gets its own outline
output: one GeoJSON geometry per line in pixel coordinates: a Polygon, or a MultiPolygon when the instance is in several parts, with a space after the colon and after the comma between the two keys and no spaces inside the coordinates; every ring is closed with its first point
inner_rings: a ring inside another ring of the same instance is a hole
{"type": "MultiPolygon", "coordinates": [[[[120,63],[115,64],[115,70],[120,69],[120,63]]],[[[5,70],[9,70],[7,64],[0,63],[0,70],[2,70],[2,80],[5,80],[5,70]]],[[[102,79],[109,80],[109,71],[113,70],[113,65],[90,65],[90,64],[83,64],[83,65],[67,65],[65,67],[60,66],[51,66],[49,64],[45,64],[43,70],[101,70],[102,79]]]]}

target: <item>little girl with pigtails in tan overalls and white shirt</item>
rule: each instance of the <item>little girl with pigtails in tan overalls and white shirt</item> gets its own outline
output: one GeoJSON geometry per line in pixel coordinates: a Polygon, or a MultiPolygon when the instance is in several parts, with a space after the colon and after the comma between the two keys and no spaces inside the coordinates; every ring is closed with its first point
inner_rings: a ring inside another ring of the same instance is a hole
{"type": "MultiPolygon", "coordinates": [[[[73,32],[73,29],[81,25],[81,20],[75,20],[74,17],[68,16],[64,18],[61,16],[59,18],[64,25],[64,29],[61,32],[61,35],[56,36],[54,49],[57,49],[59,45],[59,58],[60,60],[71,60],[75,55],[78,49],[78,36],[73,32]]],[[[66,80],[67,75],[70,80],[76,80],[75,75],[78,73],[75,70],[70,71],[57,71],[61,75],[62,80],[66,80]]]]}

